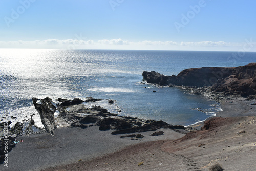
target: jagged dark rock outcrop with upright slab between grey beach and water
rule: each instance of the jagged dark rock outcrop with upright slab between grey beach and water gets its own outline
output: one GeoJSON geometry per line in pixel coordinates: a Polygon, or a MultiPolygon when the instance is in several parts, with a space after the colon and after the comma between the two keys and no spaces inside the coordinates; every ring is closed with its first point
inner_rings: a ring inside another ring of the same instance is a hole
{"type": "MultiPolygon", "coordinates": [[[[85,101],[98,101],[89,97],[85,101]]],[[[173,126],[163,121],[143,120],[134,117],[123,117],[108,112],[100,106],[86,107],[84,104],[73,104],[74,100],[58,99],[60,104],[55,104],[50,98],[33,98],[33,103],[40,114],[41,121],[47,132],[54,135],[57,125],[87,128],[88,126],[99,126],[99,130],[114,130],[112,134],[125,134],[145,131],[155,131],[160,128],[169,128],[178,132],[184,132],[184,126],[173,126]],[[64,104],[63,104],[64,103],[64,104]],[[58,116],[54,116],[55,112],[58,116]]],[[[89,102],[88,101],[88,102],[89,102]]],[[[114,101],[113,101],[114,103],[114,101]]],[[[113,104],[111,103],[111,104],[113,104]]]]}

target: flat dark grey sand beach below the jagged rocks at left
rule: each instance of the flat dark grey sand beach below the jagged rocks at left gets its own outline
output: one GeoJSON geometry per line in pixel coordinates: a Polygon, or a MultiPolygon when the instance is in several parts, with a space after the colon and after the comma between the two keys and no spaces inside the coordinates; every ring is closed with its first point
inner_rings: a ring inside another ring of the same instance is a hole
{"type": "Polygon", "coordinates": [[[50,166],[76,163],[78,160],[91,160],[132,144],[159,139],[175,140],[184,136],[171,129],[160,130],[164,132],[164,135],[152,137],[150,134],[154,131],[149,131],[141,133],[144,137],[138,140],[120,138],[121,135],[111,135],[112,130],[99,131],[98,126],[86,129],[56,129],[55,137],[49,133],[22,136],[19,138],[22,138],[24,142],[19,142],[8,153],[8,167],[1,164],[0,170],[41,170],[50,166]]]}

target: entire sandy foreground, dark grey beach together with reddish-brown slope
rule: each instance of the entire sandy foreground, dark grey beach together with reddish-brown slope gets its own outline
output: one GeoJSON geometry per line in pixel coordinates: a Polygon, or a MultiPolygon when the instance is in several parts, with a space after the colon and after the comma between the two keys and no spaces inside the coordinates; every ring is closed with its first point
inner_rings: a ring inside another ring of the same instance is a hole
{"type": "Polygon", "coordinates": [[[23,136],[24,142],[8,153],[8,167],[1,164],[0,170],[208,170],[216,162],[225,170],[253,170],[256,106],[252,102],[222,102],[223,111],[216,113],[221,117],[210,129],[186,136],[160,129],[164,135],[144,132],[144,138],[131,140],[97,126],[57,129],[56,137],[23,136]]]}

